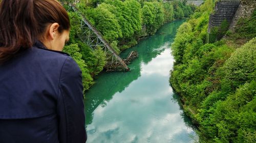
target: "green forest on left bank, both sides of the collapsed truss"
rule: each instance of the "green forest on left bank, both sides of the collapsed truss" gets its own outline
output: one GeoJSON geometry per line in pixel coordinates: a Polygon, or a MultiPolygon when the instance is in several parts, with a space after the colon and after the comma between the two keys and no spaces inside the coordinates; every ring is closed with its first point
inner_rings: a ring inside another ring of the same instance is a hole
{"type": "MultiPolygon", "coordinates": [[[[67,1],[61,1],[65,3],[67,1]]],[[[70,1],[69,1],[70,2],[70,1]]],[[[136,45],[145,36],[154,35],[158,28],[175,19],[188,18],[196,7],[180,1],[91,0],[76,4],[79,11],[97,28],[116,53],[136,45]]],[[[66,6],[67,9],[68,6],[66,6]]],[[[88,90],[93,78],[105,65],[102,49],[92,50],[81,42],[80,18],[77,12],[69,12],[71,20],[70,40],[64,48],[82,70],[83,87],[88,90]]]]}

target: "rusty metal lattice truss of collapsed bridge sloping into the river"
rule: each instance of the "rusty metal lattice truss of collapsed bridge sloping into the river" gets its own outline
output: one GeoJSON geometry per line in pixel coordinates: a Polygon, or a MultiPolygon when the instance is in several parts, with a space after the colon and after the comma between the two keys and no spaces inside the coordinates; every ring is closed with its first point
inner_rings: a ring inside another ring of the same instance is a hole
{"type": "Polygon", "coordinates": [[[114,49],[110,46],[108,42],[103,39],[103,36],[100,32],[87,20],[87,18],[77,10],[77,8],[69,4],[70,9],[68,11],[78,12],[81,16],[81,33],[80,39],[92,49],[100,47],[104,50],[106,54],[106,65],[105,68],[107,71],[129,71],[129,67],[125,62],[115,53],[114,49]]]}

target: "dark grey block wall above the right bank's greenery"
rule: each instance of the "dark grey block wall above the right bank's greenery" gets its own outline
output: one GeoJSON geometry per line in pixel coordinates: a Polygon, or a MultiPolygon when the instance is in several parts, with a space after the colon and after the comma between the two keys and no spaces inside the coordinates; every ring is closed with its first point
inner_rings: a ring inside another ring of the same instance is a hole
{"type": "MultiPolygon", "coordinates": [[[[254,0],[253,0],[254,1],[254,0]]],[[[208,33],[212,27],[220,26],[223,20],[227,20],[228,23],[231,23],[234,14],[240,5],[239,0],[233,1],[218,1],[215,5],[215,13],[211,14],[209,17],[208,33]]]]}

